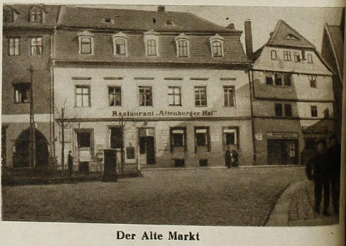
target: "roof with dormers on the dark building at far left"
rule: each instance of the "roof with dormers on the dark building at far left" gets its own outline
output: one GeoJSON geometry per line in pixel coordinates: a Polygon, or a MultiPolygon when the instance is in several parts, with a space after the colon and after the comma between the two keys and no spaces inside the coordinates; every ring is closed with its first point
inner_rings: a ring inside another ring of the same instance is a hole
{"type": "Polygon", "coordinates": [[[43,4],[8,4],[3,8],[10,8],[17,13],[17,19],[12,23],[3,23],[4,27],[53,27],[57,23],[60,6],[43,4]],[[33,23],[29,21],[30,10],[34,7],[42,8],[44,12],[44,21],[42,23],[33,23]]]}

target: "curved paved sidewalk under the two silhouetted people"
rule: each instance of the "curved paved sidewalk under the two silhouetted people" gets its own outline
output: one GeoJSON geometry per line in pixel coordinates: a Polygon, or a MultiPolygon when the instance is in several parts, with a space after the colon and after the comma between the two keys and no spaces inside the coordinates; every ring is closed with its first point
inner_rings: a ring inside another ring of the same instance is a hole
{"type": "MultiPolygon", "coordinates": [[[[323,200],[323,199],[322,199],[323,200]]],[[[323,202],[321,214],[314,211],[315,198],[313,182],[304,180],[290,185],[277,200],[267,226],[313,226],[333,225],[338,223],[338,215],[333,213],[330,200],[329,214],[323,216],[323,202]]]]}

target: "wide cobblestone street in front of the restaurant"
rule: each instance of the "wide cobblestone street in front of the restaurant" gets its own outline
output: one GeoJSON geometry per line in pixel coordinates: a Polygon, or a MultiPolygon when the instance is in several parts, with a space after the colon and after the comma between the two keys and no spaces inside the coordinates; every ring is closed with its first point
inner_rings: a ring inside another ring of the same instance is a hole
{"type": "Polygon", "coordinates": [[[251,167],[143,171],[141,178],[115,183],[2,187],[3,220],[265,225],[286,187],[304,179],[302,167],[251,167]]]}

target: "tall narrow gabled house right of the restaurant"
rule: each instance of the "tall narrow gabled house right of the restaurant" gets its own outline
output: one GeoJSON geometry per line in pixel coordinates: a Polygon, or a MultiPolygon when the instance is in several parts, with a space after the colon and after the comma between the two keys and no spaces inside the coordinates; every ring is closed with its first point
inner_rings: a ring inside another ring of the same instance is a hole
{"type": "Polygon", "coordinates": [[[253,54],[255,164],[302,164],[334,132],[333,73],[307,39],[278,21],[253,54]]]}

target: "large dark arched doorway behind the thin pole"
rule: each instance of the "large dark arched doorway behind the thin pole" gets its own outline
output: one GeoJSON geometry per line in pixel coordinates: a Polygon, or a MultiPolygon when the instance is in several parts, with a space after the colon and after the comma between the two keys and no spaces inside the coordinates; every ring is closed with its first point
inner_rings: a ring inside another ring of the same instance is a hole
{"type": "MultiPolygon", "coordinates": [[[[37,129],[36,140],[36,167],[46,167],[48,164],[48,141],[37,129]]],[[[15,142],[15,153],[13,155],[13,167],[30,167],[29,160],[30,129],[23,131],[15,142]]]]}

